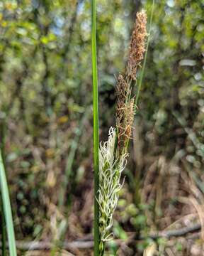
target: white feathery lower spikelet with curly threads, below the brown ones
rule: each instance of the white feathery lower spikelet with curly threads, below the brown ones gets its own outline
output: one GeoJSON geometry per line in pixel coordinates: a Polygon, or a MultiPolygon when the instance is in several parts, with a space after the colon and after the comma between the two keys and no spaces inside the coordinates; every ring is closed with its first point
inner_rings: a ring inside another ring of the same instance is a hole
{"type": "Polygon", "coordinates": [[[125,169],[127,154],[115,159],[115,128],[109,129],[108,141],[100,144],[99,149],[99,189],[98,204],[100,207],[99,230],[101,241],[113,238],[110,229],[113,225],[113,212],[118,203],[120,176],[125,169]]]}

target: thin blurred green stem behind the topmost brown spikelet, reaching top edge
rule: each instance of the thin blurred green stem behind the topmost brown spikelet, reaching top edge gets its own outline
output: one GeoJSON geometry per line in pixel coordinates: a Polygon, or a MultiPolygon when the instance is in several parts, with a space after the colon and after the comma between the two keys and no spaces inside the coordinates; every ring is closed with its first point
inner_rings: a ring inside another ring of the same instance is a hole
{"type": "Polygon", "coordinates": [[[147,52],[148,52],[148,48],[149,48],[149,41],[150,41],[150,33],[151,33],[151,28],[152,28],[152,18],[153,18],[153,14],[154,14],[154,0],[152,0],[152,11],[151,11],[151,16],[150,16],[150,21],[149,21],[149,36],[147,39],[147,48],[146,48],[146,52],[145,52],[145,59],[142,65],[142,71],[141,71],[141,75],[140,75],[140,80],[138,82],[138,88],[137,88],[137,93],[136,93],[136,97],[135,97],[135,106],[137,107],[137,103],[139,100],[139,96],[140,96],[140,89],[142,86],[142,80],[143,80],[143,76],[145,73],[145,66],[147,63],[147,52]]]}

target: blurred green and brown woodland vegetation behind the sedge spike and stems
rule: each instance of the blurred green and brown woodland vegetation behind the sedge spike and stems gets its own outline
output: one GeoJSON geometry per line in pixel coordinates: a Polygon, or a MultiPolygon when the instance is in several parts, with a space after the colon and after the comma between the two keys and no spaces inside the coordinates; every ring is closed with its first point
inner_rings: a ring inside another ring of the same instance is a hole
{"type": "MultiPolygon", "coordinates": [[[[115,125],[115,77],[141,8],[149,20],[152,1],[97,1],[101,141],[115,125]]],[[[154,245],[152,230],[204,218],[204,5],[168,0],[154,9],[108,255],[140,255],[154,245]]],[[[5,0],[0,11],[0,143],[16,240],[52,242],[56,255],[60,241],[90,240],[93,231],[91,2],[5,0]]],[[[199,234],[158,238],[157,250],[201,255],[199,234]]]]}

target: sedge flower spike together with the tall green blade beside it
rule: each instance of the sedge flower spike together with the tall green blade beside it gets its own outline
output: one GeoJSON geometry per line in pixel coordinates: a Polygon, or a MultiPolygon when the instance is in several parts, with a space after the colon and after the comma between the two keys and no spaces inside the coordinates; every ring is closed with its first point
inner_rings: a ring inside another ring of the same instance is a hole
{"type": "MultiPolygon", "coordinates": [[[[91,1],[91,39],[94,107],[94,255],[103,256],[106,241],[113,238],[113,213],[118,193],[123,186],[120,178],[128,159],[128,144],[140,92],[133,95],[137,69],[145,53],[147,15],[137,13],[132,31],[125,73],[118,75],[116,126],[109,129],[108,141],[98,145],[98,81],[96,62],[96,0],[91,1]]],[[[144,70],[142,70],[142,73],[144,70]]]]}

